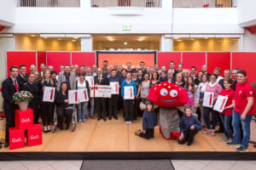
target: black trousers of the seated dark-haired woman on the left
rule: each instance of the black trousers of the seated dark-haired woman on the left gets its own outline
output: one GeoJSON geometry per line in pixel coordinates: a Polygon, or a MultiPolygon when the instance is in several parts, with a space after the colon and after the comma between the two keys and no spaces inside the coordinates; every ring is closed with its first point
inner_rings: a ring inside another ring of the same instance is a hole
{"type": "Polygon", "coordinates": [[[64,116],[66,116],[66,124],[67,126],[69,126],[72,120],[73,109],[57,108],[56,112],[57,112],[59,127],[62,127],[64,116]]]}

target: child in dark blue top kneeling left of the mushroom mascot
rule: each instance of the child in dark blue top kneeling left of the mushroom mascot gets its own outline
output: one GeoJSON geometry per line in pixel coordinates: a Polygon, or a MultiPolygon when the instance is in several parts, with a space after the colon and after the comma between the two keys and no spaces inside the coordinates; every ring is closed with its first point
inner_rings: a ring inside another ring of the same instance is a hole
{"type": "Polygon", "coordinates": [[[141,129],[135,132],[136,135],[143,139],[154,138],[154,127],[157,125],[156,112],[153,110],[153,104],[146,103],[146,111],[143,113],[143,132],[141,129]]]}

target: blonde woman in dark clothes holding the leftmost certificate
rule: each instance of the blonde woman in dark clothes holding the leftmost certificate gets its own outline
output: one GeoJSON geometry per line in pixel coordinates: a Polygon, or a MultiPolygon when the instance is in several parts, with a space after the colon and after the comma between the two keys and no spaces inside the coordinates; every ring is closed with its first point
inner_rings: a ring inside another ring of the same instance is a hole
{"type": "Polygon", "coordinates": [[[41,107],[41,116],[44,125],[44,133],[51,131],[50,123],[53,119],[53,107],[55,98],[55,82],[53,81],[49,71],[44,72],[42,80],[39,82],[39,104],[41,107]],[[49,90],[48,90],[49,88],[49,90]],[[46,90],[47,89],[47,90],[46,90]],[[49,96],[49,100],[45,99],[45,95],[49,96]]]}

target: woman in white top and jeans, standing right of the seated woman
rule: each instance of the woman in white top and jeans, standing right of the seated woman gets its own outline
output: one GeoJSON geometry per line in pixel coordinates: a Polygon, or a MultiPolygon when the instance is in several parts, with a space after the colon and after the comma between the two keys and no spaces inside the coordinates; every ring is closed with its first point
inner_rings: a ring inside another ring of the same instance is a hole
{"type": "MultiPolygon", "coordinates": [[[[79,80],[76,82],[76,89],[87,89],[87,95],[89,95],[89,82],[84,79],[84,72],[79,72],[79,80]]],[[[86,95],[86,94],[85,94],[86,95]]],[[[89,96],[87,96],[89,99],[89,96]]],[[[78,105],[78,119],[79,122],[86,122],[85,116],[88,115],[88,101],[79,103],[78,105]]]]}

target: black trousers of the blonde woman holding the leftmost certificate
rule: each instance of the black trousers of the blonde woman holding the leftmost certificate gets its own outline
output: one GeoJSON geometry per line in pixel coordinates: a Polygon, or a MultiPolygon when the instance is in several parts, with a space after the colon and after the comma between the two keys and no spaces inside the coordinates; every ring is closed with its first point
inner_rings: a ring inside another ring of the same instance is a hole
{"type": "Polygon", "coordinates": [[[41,105],[41,116],[44,127],[50,125],[52,122],[52,108],[54,107],[54,103],[44,102],[44,105],[41,105]]]}

